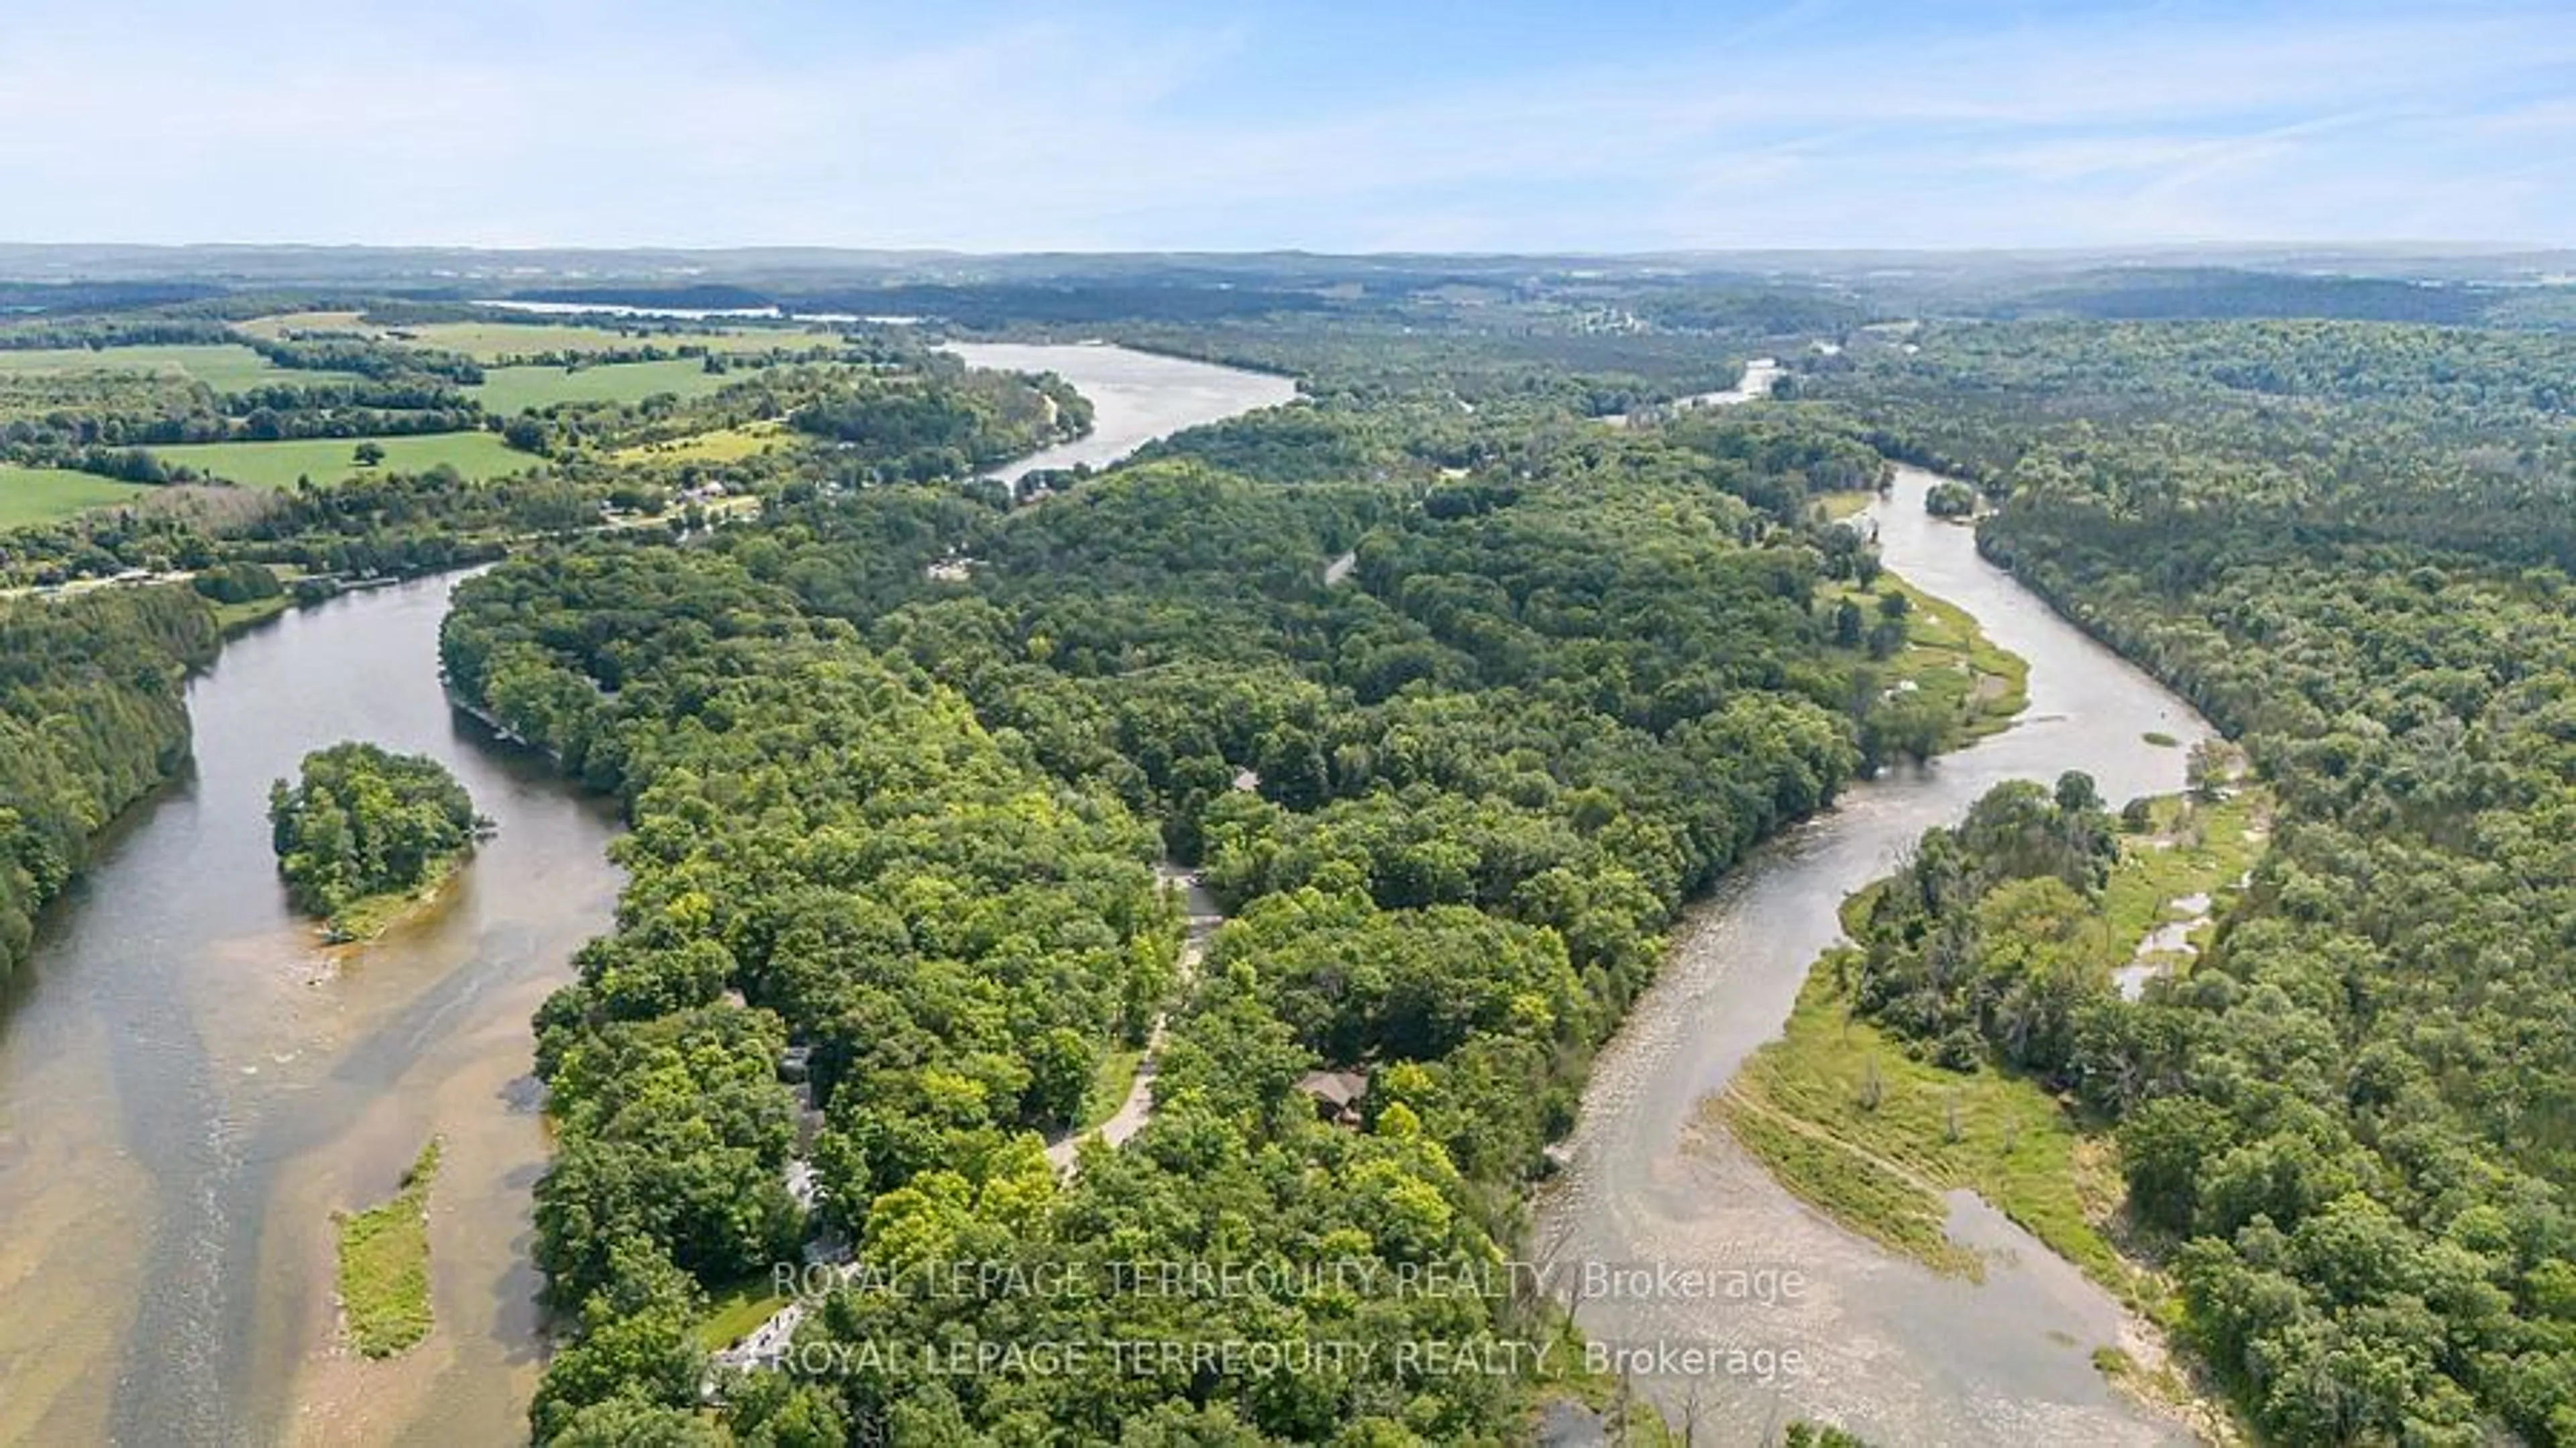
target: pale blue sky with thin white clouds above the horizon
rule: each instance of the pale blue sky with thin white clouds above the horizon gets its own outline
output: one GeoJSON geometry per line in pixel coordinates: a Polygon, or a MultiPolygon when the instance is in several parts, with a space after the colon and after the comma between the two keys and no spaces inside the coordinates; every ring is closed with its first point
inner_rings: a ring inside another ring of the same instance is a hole
{"type": "Polygon", "coordinates": [[[2576,5],[0,0],[0,240],[2576,245],[2576,5]]]}

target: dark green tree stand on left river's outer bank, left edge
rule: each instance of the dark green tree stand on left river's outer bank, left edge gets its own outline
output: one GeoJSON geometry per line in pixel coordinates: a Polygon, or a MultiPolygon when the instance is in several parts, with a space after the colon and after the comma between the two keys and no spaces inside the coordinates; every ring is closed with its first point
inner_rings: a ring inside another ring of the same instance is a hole
{"type": "Polygon", "coordinates": [[[185,587],[0,603],[0,976],[90,840],[185,763],[180,688],[214,647],[185,587]]]}

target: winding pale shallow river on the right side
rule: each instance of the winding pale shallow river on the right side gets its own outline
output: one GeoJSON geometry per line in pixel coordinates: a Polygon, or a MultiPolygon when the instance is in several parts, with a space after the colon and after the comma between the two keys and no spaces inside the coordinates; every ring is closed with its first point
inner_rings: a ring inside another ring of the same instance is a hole
{"type": "Polygon", "coordinates": [[[1984,562],[1968,528],[1927,518],[1932,482],[1899,469],[1893,495],[1873,505],[1883,557],[2030,660],[2030,709],[1963,752],[1855,786],[1692,910],[1664,974],[1595,1064],[1566,1170],[1530,1234],[1533,1255],[1574,1283],[1587,1262],[1798,1273],[1801,1291],[1767,1304],[1687,1291],[1577,1301],[1577,1324],[1600,1342],[1744,1350],[1718,1371],[1636,1378],[1698,1443],[1762,1443],[1793,1417],[1906,1445],[2177,1438],[2092,1366],[2094,1348],[2120,1342],[2117,1304],[1999,1214],[1953,1198],[1953,1237],[1994,1257],[1984,1283],[1937,1275],[1788,1196],[1703,1113],[1780,1033],[1808,964],[1839,938],[1842,897],[1888,873],[1924,830],[1955,822],[1994,783],[2071,768],[2115,804],[2177,791],[2184,750],[2210,734],[2187,703],[1984,562]],[[2146,732],[2182,747],[2148,745],[2146,732]]]}

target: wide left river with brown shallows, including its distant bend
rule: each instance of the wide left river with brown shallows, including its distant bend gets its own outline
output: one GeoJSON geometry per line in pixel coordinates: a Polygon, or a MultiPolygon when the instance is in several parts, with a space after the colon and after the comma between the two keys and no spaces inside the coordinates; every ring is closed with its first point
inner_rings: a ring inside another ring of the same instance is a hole
{"type": "MultiPolygon", "coordinates": [[[[1105,464],[1293,384],[1121,348],[958,348],[1056,371],[1105,464]]],[[[196,765],[121,819],[0,1000],[0,1443],[526,1438],[541,1366],[528,1188],[546,1162],[528,1015],[608,928],[611,809],[495,745],[438,685],[448,580],[224,644],[188,688],[196,765]],[[448,763],[500,822],[448,894],[337,961],[286,910],[268,783],[337,739],[448,763]],[[438,1329],[332,1348],[330,1214],[428,1136],[438,1329]]]]}

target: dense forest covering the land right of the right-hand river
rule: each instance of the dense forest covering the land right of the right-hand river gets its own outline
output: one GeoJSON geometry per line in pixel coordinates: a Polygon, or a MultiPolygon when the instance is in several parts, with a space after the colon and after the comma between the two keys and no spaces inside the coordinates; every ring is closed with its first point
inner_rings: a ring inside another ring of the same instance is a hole
{"type": "Polygon", "coordinates": [[[2187,1332],[2275,1440],[2576,1443],[2558,343],[2022,340],[1932,338],[1837,389],[1906,425],[1968,399],[1945,446],[1996,459],[1986,551],[2239,732],[2280,799],[2208,958],[2123,1051],[2076,1031],[2040,1069],[2120,1121],[2187,1332]]]}

